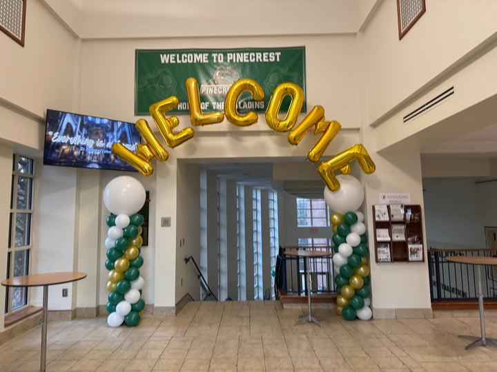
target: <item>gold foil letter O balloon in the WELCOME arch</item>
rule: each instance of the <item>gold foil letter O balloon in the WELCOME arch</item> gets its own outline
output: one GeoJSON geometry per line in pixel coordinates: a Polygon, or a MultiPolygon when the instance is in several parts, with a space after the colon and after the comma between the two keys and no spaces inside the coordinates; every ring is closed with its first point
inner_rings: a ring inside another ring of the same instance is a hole
{"type": "Polygon", "coordinates": [[[278,85],[271,96],[269,105],[266,109],[266,123],[276,132],[286,132],[291,130],[297,122],[300,110],[304,105],[304,91],[300,86],[294,83],[282,83],[278,85]],[[284,96],[291,96],[291,103],[286,117],[280,120],[277,117],[284,96]]]}

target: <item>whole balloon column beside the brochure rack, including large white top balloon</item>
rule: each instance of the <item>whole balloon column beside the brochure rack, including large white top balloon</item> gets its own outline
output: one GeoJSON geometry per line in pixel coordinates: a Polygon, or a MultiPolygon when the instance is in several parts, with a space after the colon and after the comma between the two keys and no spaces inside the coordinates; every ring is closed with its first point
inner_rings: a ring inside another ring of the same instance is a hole
{"type": "Polygon", "coordinates": [[[349,175],[337,176],[340,189],[332,192],[324,187],[324,200],[335,213],[333,224],[333,272],[338,292],[336,312],[345,320],[357,316],[369,320],[371,290],[369,289],[369,249],[364,214],[358,207],[364,200],[360,182],[349,175]]]}

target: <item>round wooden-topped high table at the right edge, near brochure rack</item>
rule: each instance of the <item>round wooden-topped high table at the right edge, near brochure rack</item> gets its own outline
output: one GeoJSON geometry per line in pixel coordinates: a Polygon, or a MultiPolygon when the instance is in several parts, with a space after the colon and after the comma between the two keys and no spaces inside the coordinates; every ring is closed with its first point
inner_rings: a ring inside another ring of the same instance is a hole
{"type": "Polygon", "coordinates": [[[445,257],[446,261],[449,262],[457,262],[457,263],[465,263],[469,265],[477,265],[478,267],[478,309],[480,310],[480,329],[481,329],[481,337],[471,336],[471,335],[459,335],[458,337],[464,338],[465,340],[471,340],[471,344],[467,345],[465,349],[469,349],[470,347],[474,347],[478,344],[482,344],[483,346],[493,346],[497,347],[497,339],[495,338],[485,338],[485,318],[483,315],[483,292],[481,289],[481,265],[497,265],[497,257],[478,257],[478,256],[449,256],[445,257]]]}

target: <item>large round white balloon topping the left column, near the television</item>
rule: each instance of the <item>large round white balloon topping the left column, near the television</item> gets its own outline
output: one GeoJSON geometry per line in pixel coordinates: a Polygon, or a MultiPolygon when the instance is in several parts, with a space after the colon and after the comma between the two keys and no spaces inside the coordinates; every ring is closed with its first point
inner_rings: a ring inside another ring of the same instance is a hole
{"type": "Polygon", "coordinates": [[[110,213],[131,216],[142,209],[145,189],[138,180],[130,176],[119,176],[110,180],[104,189],[104,205],[110,213]]]}

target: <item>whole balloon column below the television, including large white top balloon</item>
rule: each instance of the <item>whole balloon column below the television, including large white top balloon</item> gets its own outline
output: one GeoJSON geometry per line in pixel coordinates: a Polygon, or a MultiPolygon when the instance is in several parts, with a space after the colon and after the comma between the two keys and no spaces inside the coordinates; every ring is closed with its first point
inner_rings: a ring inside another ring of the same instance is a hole
{"type": "Polygon", "coordinates": [[[108,238],[105,241],[110,292],[106,309],[110,327],[119,327],[123,322],[135,327],[143,316],[144,278],[139,268],[144,262],[140,256],[144,219],[137,211],[143,207],[145,195],[142,184],[130,176],[114,178],[104,189],[104,205],[111,213],[106,220],[108,238]]]}

